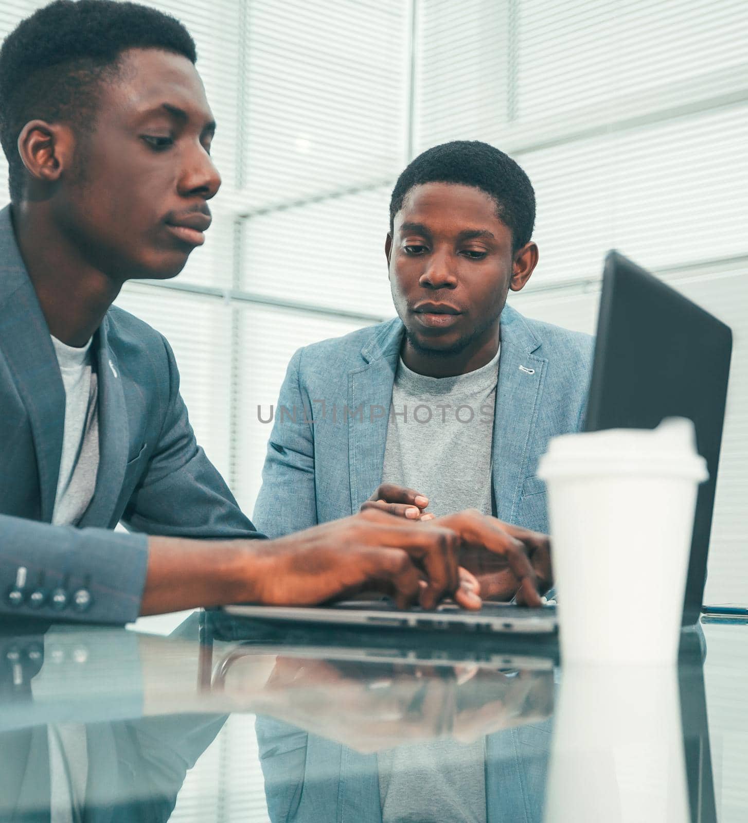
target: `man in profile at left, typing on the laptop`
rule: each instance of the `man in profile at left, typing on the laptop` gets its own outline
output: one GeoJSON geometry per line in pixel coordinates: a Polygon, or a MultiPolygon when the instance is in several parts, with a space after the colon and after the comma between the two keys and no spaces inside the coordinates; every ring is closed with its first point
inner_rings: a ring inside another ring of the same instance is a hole
{"type": "Polygon", "coordinates": [[[169,344],[111,308],[129,278],[178,274],[210,225],[221,179],[194,62],[179,22],[108,0],[54,2],[2,46],[0,614],[126,622],[363,584],[407,603],[422,576],[434,600],[480,605],[445,527],[377,513],[241,539],[258,535],[195,442],[169,344]],[[143,533],[107,531],[120,520],[143,533]]]}

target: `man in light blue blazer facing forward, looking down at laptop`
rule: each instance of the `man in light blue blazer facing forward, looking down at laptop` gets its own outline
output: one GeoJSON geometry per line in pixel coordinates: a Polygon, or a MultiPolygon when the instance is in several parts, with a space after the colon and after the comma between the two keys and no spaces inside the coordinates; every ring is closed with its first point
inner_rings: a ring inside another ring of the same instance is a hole
{"type": "MultiPolygon", "coordinates": [[[[537,265],[534,220],[527,175],[486,143],[435,146],[402,172],[385,240],[397,319],[291,358],[258,528],[281,536],[378,507],[472,508],[548,531],[537,461],[582,425],[592,338],[506,305],[537,265]]],[[[533,559],[550,583],[546,551],[533,559]]],[[[486,596],[512,597],[512,574],[481,576],[486,596]]]]}

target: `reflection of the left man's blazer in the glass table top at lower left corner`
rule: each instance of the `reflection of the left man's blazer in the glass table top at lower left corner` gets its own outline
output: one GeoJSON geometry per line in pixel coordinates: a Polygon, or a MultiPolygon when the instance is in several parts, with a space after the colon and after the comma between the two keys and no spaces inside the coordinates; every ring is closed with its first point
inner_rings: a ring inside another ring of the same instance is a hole
{"type": "MultiPolygon", "coordinates": [[[[188,644],[70,626],[30,635],[30,627],[0,630],[0,820],[169,820],[186,772],[223,723],[187,711],[142,717],[154,667],[147,647],[160,652],[157,673],[167,680],[174,667],[184,675],[188,644]]],[[[196,658],[197,643],[189,650],[196,658]]],[[[180,696],[173,692],[172,712],[180,696]]]]}

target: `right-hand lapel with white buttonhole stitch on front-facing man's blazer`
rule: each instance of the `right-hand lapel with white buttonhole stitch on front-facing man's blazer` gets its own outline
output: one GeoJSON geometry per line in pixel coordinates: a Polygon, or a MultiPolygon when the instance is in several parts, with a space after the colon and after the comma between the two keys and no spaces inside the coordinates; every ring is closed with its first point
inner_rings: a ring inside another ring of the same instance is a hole
{"type": "Polygon", "coordinates": [[[501,313],[501,354],[493,442],[496,516],[513,522],[537,422],[538,402],[548,361],[534,355],[541,341],[509,306],[501,313]]]}

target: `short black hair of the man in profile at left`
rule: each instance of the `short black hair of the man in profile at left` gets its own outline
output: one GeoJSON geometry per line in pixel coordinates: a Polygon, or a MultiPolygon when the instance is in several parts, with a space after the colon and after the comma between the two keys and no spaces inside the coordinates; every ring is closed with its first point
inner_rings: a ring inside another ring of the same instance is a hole
{"type": "Polygon", "coordinates": [[[178,20],[134,2],[56,0],[7,36],[0,49],[0,142],[13,200],[23,181],[21,129],[38,118],[91,131],[100,83],[116,76],[125,49],[137,48],[197,60],[194,40],[178,20]]]}

